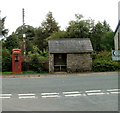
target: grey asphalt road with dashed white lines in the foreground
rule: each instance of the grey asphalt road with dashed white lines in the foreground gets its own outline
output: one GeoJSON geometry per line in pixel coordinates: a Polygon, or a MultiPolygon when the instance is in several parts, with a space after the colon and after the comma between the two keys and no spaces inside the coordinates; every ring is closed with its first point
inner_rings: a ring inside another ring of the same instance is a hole
{"type": "Polygon", "coordinates": [[[117,111],[118,73],[3,78],[3,111],[117,111]]]}

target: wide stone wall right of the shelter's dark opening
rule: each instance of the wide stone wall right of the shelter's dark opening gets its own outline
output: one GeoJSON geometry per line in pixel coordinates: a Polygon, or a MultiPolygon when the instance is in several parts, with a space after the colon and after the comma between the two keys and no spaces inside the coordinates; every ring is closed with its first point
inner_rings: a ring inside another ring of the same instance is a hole
{"type": "Polygon", "coordinates": [[[67,54],[67,72],[82,72],[92,69],[90,53],[67,54]]]}

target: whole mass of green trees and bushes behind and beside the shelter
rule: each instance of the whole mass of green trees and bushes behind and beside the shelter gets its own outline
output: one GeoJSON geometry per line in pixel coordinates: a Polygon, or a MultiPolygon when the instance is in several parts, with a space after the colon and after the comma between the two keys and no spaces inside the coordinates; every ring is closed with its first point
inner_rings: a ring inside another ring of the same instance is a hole
{"type": "MultiPolygon", "coordinates": [[[[5,18],[2,19],[3,34],[8,30],[4,28],[5,18]]],[[[92,19],[84,19],[80,14],[75,15],[75,20],[69,22],[66,30],[60,30],[60,26],[48,12],[41,26],[34,28],[30,25],[19,26],[15,32],[2,40],[3,43],[3,71],[11,71],[12,49],[23,48],[23,34],[26,45],[26,61],[23,62],[24,71],[44,72],[48,71],[48,40],[55,38],[90,38],[94,52],[93,71],[119,70],[117,62],[111,60],[111,50],[114,49],[113,31],[106,21],[94,23],[92,19]],[[25,64],[25,65],[24,65],[25,64]],[[27,68],[26,68],[27,66],[27,68]]]]}

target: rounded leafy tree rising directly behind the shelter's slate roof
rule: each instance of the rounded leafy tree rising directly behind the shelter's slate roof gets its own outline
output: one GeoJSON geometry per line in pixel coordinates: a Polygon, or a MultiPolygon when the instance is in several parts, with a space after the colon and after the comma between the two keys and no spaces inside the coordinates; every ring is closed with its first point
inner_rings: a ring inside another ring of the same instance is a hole
{"type": "Polygon", "coordinates": [[[70,38],[89,38],[91,28],[93,27],[93,20],[83,20],[83,16],[75,14],[76,20],[69,22],[67,32],[70,38]]]}

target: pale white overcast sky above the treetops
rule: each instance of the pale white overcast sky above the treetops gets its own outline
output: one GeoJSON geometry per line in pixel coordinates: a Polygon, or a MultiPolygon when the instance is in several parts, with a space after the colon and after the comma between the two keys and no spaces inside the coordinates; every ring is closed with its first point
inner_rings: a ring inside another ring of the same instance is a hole
{"type": "Polygon", "coordinates": [[[0,0],[0,10],[1,16],[7,17],[5,27],[10,33],[22,25],[22,8],[25,9],[25,24],[33,27],[39,27],[51,11],[61,30],[79,13],[96,22],[106,20],[114,31],[118,24],[118,1],[120,0],[0,0]]]}

